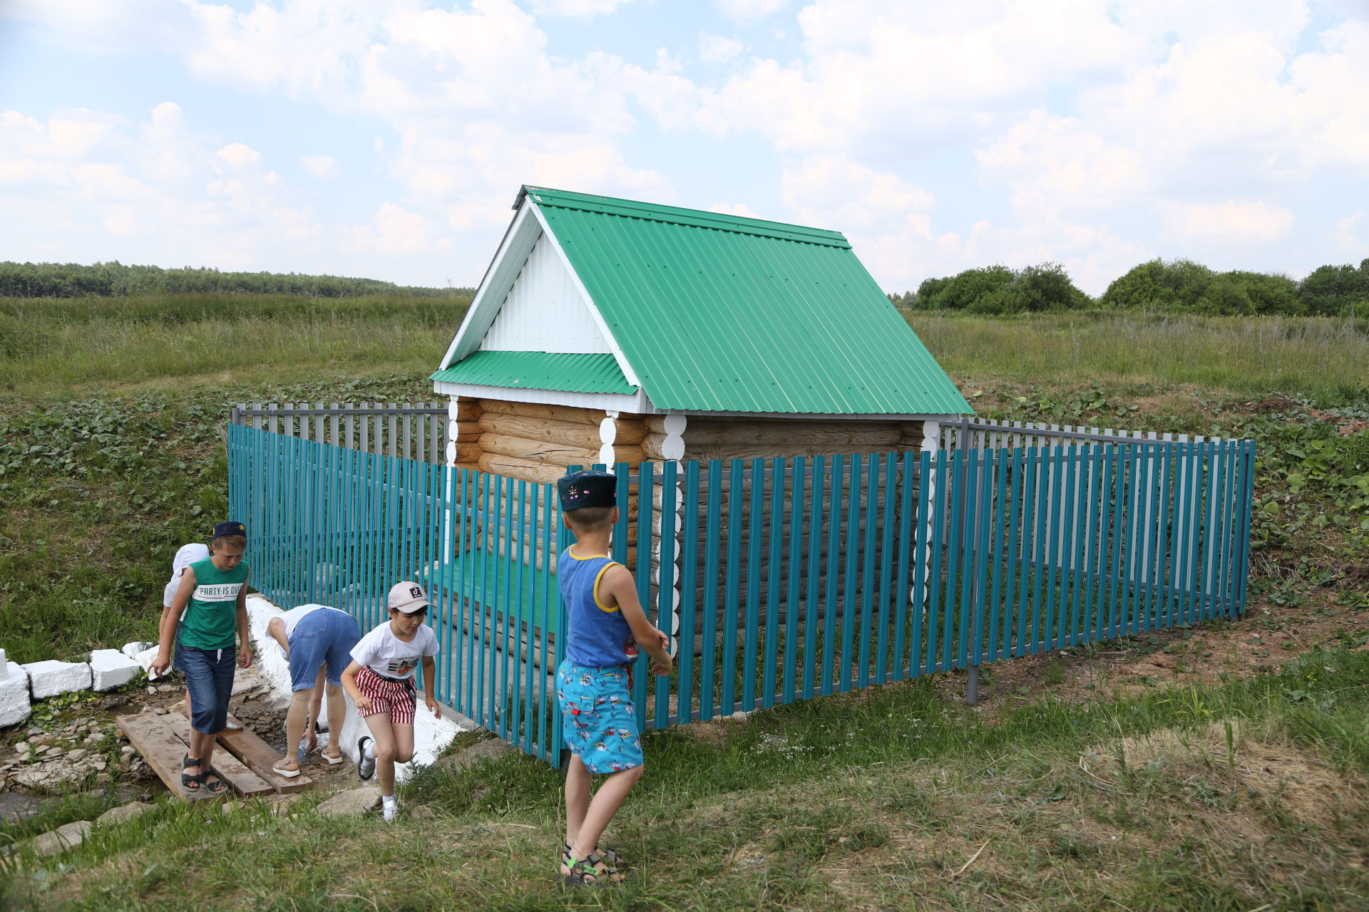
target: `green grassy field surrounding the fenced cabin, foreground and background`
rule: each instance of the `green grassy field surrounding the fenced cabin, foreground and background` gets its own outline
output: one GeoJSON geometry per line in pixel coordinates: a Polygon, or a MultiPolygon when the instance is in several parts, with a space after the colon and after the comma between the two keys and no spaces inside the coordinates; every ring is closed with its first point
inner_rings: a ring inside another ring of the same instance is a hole
{"type": "MultiPolygon", "coordinates": [[[[402,298],[0,301],[0,645],[23,662],[152,637],[171,555],[226,509],[227,409],[431,399],[460,314],[402,298]]],[[[1017,708],[969,711],[939,677],[652,734],[611,831],[638,870],[611,891],[556,887],[560,778],[509,757],[419,777],[405,800],[426,816],[401,827],[315,818],[314,797],[294,818],[166,804],[0,878],[0,907],[1369,909],[1366,327],[910,323],[983,416],[1254,438],[1253,610],[1316,613],[1335,634],[1181,689],[1069,701],[1050,696],[1068,684],[1053,665],[1017,708]]],[[[1249,623],[1228,633],[1273,639],[1249,623]]],[[[0,841],[112,800],[57,803],[0,841]]]]}

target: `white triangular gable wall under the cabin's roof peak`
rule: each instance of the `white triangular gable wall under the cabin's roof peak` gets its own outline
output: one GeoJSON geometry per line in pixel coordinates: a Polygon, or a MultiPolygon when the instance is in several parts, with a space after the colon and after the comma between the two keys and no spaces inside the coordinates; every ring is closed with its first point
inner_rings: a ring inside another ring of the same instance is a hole
{"type": "Polygon", "coordinates": [[[542,234],[481,342],[486,351],[609,354],[589,304],[542,234]]]}

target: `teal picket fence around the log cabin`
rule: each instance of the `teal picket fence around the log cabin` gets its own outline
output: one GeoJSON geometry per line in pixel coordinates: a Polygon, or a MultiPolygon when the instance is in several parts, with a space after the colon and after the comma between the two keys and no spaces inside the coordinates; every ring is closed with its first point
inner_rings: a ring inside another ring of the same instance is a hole
{"type": "MultiPolygon", "coordinates": [[[[554,485],[237,424],[229,455],[252,585],[370,626],[424,582],[437,697],[559,760],[554,485]]],[[[639,722],[1239,614],[1253,470],[1249,440],[619,465],[613,556],[676,658],[634,667],[639,722]]]]}

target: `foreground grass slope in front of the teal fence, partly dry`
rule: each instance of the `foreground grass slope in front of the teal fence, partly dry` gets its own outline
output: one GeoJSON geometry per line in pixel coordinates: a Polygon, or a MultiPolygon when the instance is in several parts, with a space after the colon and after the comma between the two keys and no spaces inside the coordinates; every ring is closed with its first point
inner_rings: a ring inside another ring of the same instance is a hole
{"type": "MultiPolygon", "coordinates": [[[[637,870],[557,882],[560,775],[430,768],[398,826],[163,803],[47,866],[25,909],[1253,912],[1369,904],[1369,654],[1183,693],[986,719],[927,681],[646,737],[606,838],[637,870]]],[[[100,809],[71,801],[26,831],[100,809]]]]}

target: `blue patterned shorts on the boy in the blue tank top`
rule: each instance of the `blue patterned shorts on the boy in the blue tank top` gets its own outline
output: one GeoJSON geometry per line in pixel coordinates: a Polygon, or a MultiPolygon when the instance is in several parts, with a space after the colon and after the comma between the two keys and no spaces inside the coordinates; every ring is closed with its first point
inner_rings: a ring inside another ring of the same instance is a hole
{"type": "Polygon", "coordinates": [[[645,763],[627,666],[589,667],[571,660],[556,670],[565,747],[590,773],[622,773],[645,763]]]}

